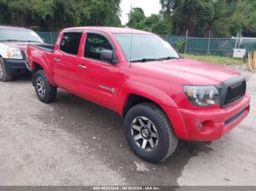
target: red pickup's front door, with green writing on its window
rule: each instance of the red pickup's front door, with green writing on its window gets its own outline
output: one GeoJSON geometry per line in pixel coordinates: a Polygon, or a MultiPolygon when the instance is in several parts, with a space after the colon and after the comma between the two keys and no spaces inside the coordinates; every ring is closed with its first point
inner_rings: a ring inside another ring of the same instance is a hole
{"type": "Polygon", "coordinates": [[[116,93],[120,81],[116,48],[106,34],[90,32],[83,42],[80,58],[79,92],[84,98],[116,109],[116,93]],[[102,61],[100,52],[113,50],[116,63],[102,61]]]}

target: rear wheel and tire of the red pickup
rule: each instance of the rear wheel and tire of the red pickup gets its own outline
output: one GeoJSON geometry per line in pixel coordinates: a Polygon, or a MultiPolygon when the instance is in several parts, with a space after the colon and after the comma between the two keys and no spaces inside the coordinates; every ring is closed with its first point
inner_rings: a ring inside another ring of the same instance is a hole
{"type": "Polygon", "coordinates": [[[53,102],[57,95],[57,88],[50,85],[45,75],[45,71],[39,70],[34,75],[34,88],[37,93],[37,97],[45,104],[53,102]]]}

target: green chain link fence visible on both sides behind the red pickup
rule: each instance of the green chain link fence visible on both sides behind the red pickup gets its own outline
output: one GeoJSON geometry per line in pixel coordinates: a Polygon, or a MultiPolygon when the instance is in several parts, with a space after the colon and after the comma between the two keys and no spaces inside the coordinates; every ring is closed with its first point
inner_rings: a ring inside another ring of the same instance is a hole
{"type": "MultiPolygon", "coordinates": [[[[55,44],[58,32],[37,32],[48,44],[55,44]]],[[[233,56],[234,48],[246,49],[246,52],[256,51],[256,38],[241,36],[232,38],[198,38],[186,36],[163,35],[163,39],[173,45],[179,52],[193,55],[233,56]]]]}

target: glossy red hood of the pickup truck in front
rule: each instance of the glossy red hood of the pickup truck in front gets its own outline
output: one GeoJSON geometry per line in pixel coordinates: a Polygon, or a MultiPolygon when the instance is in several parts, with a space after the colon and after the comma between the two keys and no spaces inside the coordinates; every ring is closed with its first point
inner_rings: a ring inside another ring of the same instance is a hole
{"type": "Polygon", "coordinates": [[[139,63],[138,67],[143,67],[141,71],[150,70],[151,72],[148,73],[153,73],[157,78],[169,81],[173,77],[187,85],[218,85],[227,79],[241,75],[238,71],[224,66],[186,58],[139,63]]]}

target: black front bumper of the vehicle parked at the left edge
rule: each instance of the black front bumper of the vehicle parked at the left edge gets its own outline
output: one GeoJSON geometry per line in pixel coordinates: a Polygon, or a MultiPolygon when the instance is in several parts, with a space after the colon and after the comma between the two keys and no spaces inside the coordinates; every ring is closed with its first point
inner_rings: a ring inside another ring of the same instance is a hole
{"type": "Polygon", "coordinates": [[[26,68],[26,60],[4,59],[4,67],[7,73],[11,76],[30,74],[26,68]]]}

